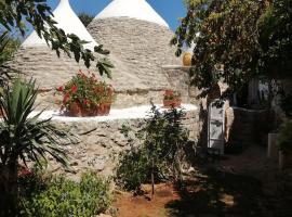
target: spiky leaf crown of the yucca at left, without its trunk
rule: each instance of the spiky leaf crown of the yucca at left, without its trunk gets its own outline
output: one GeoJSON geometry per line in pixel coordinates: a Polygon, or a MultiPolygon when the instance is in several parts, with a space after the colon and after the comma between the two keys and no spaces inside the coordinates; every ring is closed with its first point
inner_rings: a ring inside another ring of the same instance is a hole
{"type": "Polygon", "coordinates": [[[71,142],[65,130],[58,129],[51,119],[40,120],[42,112],[30,117],[34,112],[38,89],[35,80],[14,80],[12,87],[6,86],[0,99],[4,110],[3,122],[0,123],[0,157],[1,164],[9,161],[27,159],[41,165],[48,154],[58,163],[67,165],[64,144],[71,142]]]}

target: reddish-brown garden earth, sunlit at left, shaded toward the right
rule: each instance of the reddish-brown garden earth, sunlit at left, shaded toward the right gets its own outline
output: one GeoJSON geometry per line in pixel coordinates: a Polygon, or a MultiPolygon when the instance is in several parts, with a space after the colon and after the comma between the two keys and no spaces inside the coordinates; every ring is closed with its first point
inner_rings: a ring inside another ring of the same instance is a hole
{"type": "Polygon", "coordinates": [[[251,145],[242,154],[226,156],[218,163],[198,167],[180,188],[156,186],[150,200],[116,193],[118,217],[290,217],[291,176],[266,159],[266,149],[251,145]],[[201,169],[203,168],[203,169],[201,169]]]}

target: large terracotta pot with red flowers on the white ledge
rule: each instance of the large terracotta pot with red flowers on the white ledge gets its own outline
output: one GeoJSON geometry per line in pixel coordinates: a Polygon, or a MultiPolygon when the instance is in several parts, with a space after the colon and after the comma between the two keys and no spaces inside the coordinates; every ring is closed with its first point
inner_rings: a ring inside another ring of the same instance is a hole
{"type": "Polygon", "coordinates": [[[81,71],[57,92],[63,95],[62,111],[77,117],[108,115],[115,97],[111,85],[99,81],[94,73],[85,75],[81,71]]]}

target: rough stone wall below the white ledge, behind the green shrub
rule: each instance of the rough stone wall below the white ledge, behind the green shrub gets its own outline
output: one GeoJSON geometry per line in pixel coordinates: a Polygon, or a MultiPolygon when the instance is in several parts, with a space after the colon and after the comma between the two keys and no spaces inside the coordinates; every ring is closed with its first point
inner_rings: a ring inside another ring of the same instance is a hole
{"type": "MultiPolygon", "coordinates": [[[[197,140],[201,124],[199,122],[199,111],[187,112],[184,126],[189,130],[189,139],[197,140]]],[[[127,140],[119,131],[122,125],[131,126],[134,130],[141,128],[145,119],[121,119],[112,122],[57,122],[59,127],[69,129],[75,135],[79,143],[66,146],[70,173],[67,176],[78,178],[85,169],[93,169],[104,176],[112,175],[117,157],[123,150],[130,149],[127,140]]],[[[52,164],[50,169],[62,171],[61,167],[52,164]]]]}

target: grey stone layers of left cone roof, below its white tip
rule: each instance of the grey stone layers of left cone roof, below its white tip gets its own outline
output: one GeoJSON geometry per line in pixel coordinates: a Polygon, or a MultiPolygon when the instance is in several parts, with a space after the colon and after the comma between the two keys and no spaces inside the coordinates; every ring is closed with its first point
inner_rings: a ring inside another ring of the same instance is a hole
{"type": "Polygon", "coordinates": [[[58,58],[49,47],[21,48],[12,62],[14,69],[19,71],[25,77],[37,79],[40,89],[51,90],[68,81],[79,69],[84,69],[82,62],[77,63],[65,54],[58,58]]]}

